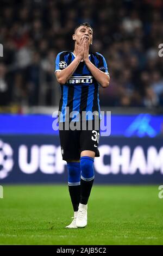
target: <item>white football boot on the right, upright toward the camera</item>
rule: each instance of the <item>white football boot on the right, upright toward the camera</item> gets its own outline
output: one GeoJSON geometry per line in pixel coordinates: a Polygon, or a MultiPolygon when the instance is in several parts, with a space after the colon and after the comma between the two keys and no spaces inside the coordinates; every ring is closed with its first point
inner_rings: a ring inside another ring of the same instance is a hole
{"type": "Polygon", "coordinates": [[[87,204],[79,204],[76,225],[78,228],[84,228],[87,225],[87,204]]]}

